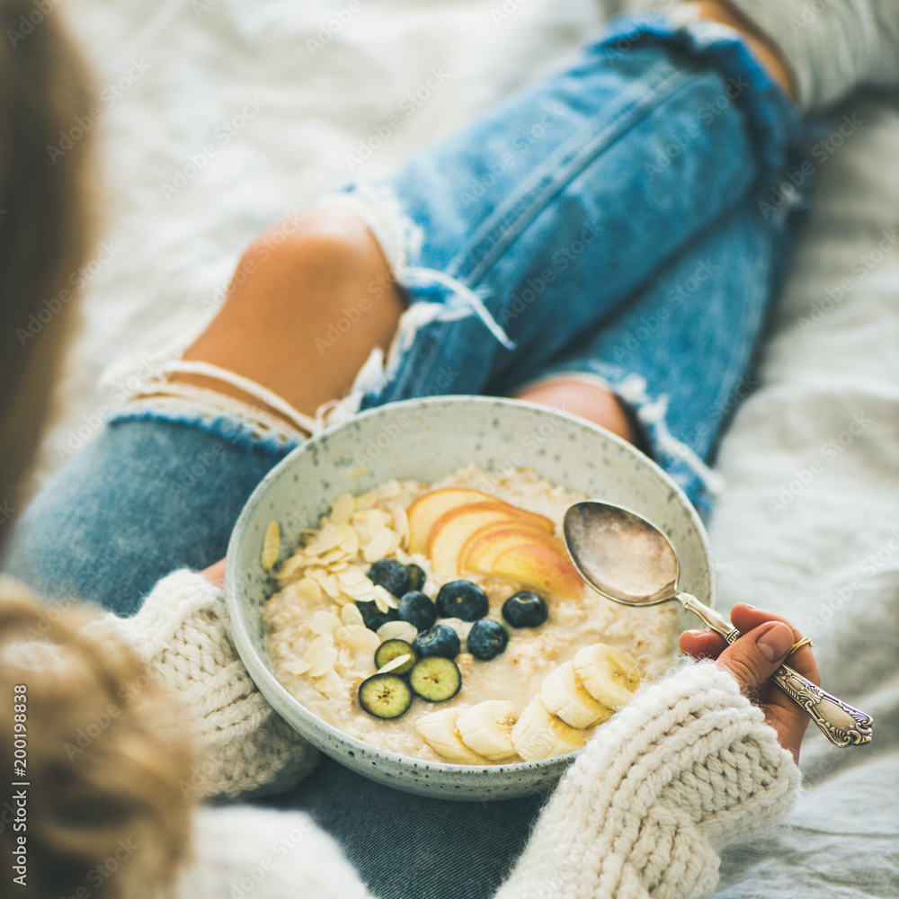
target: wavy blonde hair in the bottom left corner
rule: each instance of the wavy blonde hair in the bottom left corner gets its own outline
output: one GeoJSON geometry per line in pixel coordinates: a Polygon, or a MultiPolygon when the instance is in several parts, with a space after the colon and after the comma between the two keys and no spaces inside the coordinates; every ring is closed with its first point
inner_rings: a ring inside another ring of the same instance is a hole
{"type": "Polygon", "coordinates": [[[188,844],[178,784],[193,753],[165,726],[171,698],[124,646],[87,636],[88,620],[0,581],[0,770],[30,785],[26,829],[12,826],[18,804],[0,819],[0,878],[13,884],[25,860],[25,899],[160,895],[188,844]]]}

